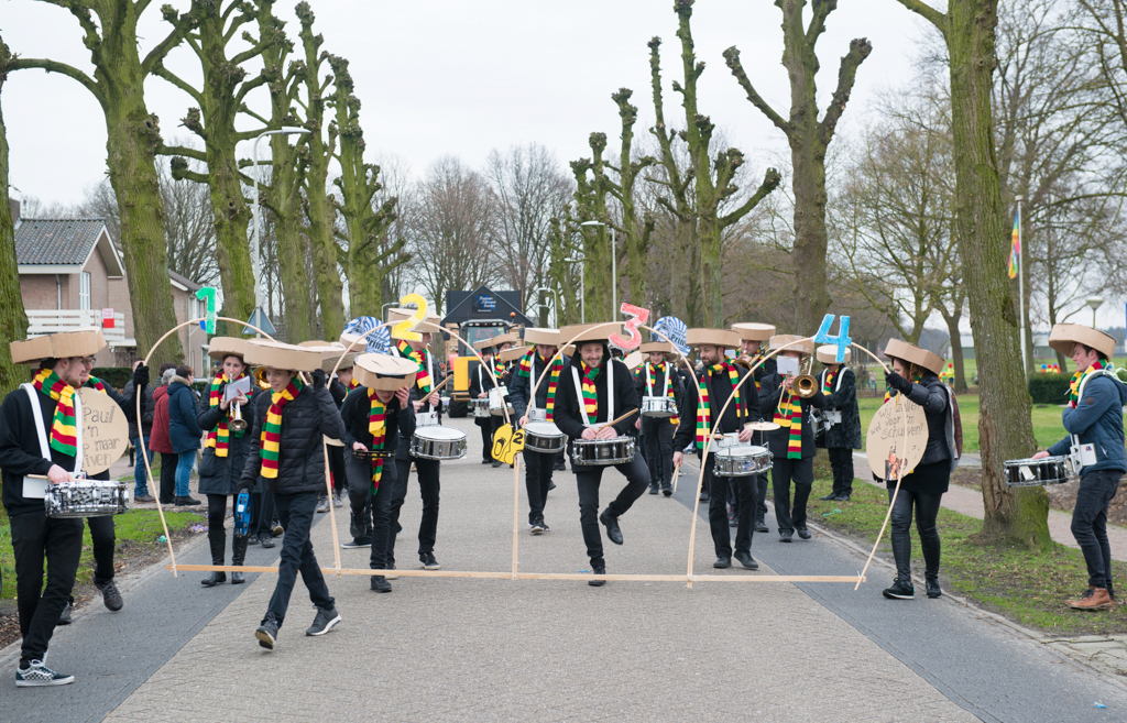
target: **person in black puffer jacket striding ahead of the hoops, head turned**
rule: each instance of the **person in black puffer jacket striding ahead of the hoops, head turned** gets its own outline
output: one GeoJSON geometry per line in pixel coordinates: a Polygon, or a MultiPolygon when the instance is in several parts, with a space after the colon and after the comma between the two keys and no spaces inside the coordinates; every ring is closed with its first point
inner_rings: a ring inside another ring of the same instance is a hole
{"type": "Polygon", "coordinates": [[[255,405],[247,466],[239,489],[249,491],[259,475],[265,477],[285,527],[277,584],[261,625],[255,631],[258,644],[273,650],[299,572],[317,607],[317,616],[305,634],[323,635],[340,622],[309,532],[317,496],[325,489],[322,438],[340,439],[344,425],[332,395],[325,387],[319,351],[254,339],[247,342],[246,360],[266,366],[270,392],[263,395],[269,403],[255,405]],[[312,383],[307,384],[299,372],[312,372],[312,383]]]}

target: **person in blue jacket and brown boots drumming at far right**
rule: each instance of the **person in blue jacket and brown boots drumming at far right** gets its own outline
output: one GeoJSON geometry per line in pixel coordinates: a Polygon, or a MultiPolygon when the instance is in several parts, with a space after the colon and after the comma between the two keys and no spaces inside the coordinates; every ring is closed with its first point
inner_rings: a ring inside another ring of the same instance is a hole
{"type": "Polygon", "coordinates": [[[1080,471],[1080,490],[1072,512],[1072,535],[1088,564],[1088,590],[1079,599],[1065,600],[1077,610],[1115,607],[1111,548],[1108,546],[1108,506],[1127,472],[1124,453],[1124,416],[1127,387],[1111,373],[1109,359],[1116,341],[1083,324],[1056,324],[1049,346],[1072,356],[1076,373],[1070,383],[1068,405],[1061,414],[1068,436],[1033,455],[1066,455],[1075,447],[1073,466],[1080,471]]]}

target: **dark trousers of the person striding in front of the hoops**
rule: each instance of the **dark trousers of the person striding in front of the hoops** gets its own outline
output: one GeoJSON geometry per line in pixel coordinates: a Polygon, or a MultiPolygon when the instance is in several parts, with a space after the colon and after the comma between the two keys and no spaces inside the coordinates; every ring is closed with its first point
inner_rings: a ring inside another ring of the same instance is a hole
{"type": "Polygon", "coordinates": [[[325,584],[325,575],[321,574],[321,566],[317,563],[317,556],[313,554],[313,543],[309,542],[309,530],[313,526],[313,515],[317,509],[317,492],[301,492],[274,497],[278,519],[285,527],[285,537],[282,538],[278,581],[274,587],[274,595],[270,596],[270,604],[266,612],[274,615],[278,627],[285,619],[286,609],[290,607],[290,596],[293,593],[293,586],[298,582],[299,572],[302,582],[309,588],[309,599],[312,600],[313,605],[322,609],[334,607],[329,587],[325,584]]]}

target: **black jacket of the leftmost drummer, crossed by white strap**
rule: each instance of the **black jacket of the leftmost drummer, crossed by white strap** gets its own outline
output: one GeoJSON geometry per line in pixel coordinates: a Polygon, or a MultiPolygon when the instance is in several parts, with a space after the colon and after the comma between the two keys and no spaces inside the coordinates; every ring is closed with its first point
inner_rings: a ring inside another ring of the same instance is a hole
{"type": "MultiPolygon", "coordinates": [[[[39,392],[35,392],[35,398],[43,411],[44,432],[50,443],[57,402],[39,392]]],[[[68,472],[74,471],[74,457],[48,449],[51,459],[44,459],[27,392],[23,389],[9,392],[0,404],[0,479],[3,481],[3,506],[8,515],[36,511],[46,515],[42,499],[24,497],[24,475],[46,474],[53,464],[68,472]]]]}

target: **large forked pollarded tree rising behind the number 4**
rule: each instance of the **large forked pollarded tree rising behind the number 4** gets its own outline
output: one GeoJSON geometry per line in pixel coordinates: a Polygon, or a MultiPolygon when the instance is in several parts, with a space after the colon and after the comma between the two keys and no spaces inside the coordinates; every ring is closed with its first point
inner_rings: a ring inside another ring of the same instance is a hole
{"type": "Polygon", "coordinates": [[[837,0],[814,0],[810,20],[804,23],[806,0],[775,0],[782,10],[782,64],[790,77],[790,118],[779,115],[752,86],[739,62],[735,46],[724,52],[731,73],[739,81],[747,99],[752,101],[775,127],[783,132],[790,144],[791,184],[795,193],[795,315],[796,329],[813,332],[829,307],[829,285],[826,277],[826,146],[857,79],[857,69],[872,52],[864,38],[850,43],[849,53],[842,57],[837,73],[837,89],[818,119],[817,84],[818,56],[815,45],[826,29],[826,18],[837,8],[837,0]]]}

